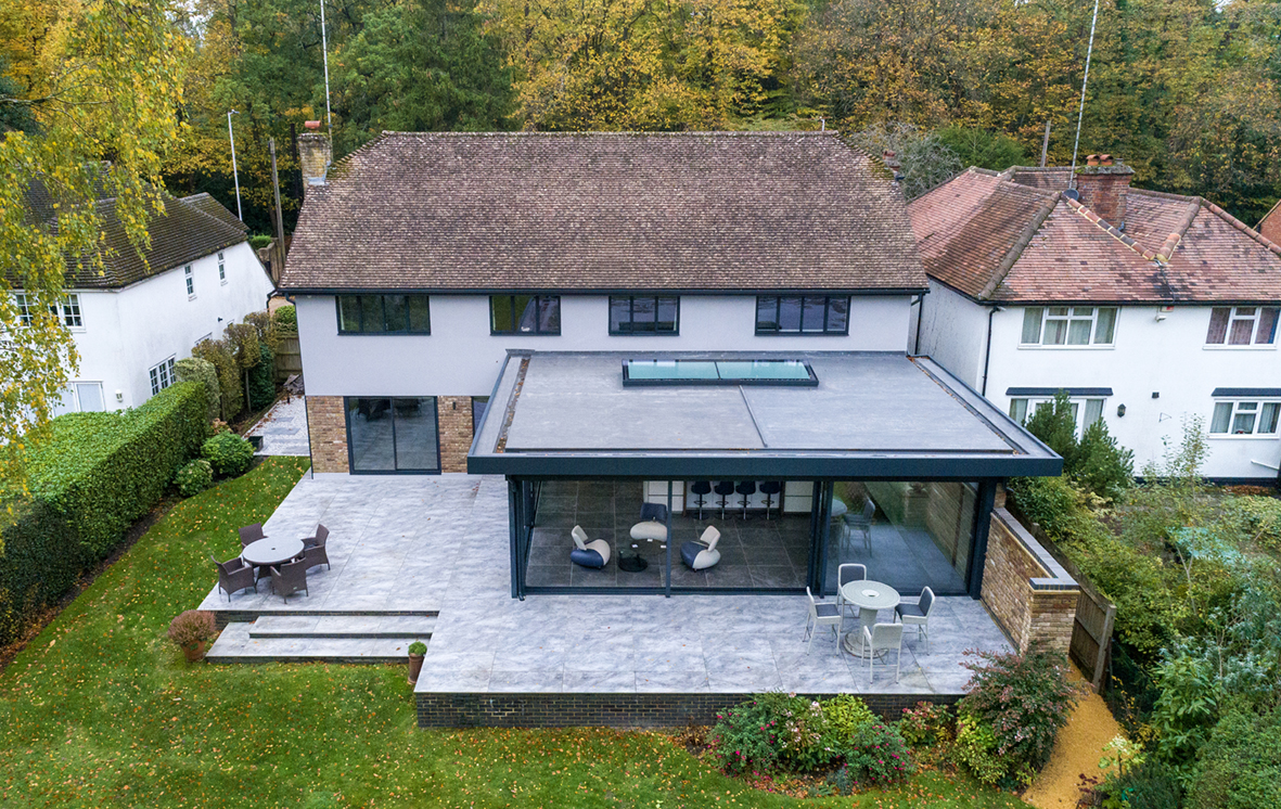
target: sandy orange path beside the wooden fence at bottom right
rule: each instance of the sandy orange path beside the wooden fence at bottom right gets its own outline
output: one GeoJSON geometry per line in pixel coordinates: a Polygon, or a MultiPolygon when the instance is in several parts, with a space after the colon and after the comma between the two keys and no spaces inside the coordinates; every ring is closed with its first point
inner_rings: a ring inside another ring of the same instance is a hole
{"type": "MultiPolygon", "coordinates": [[[[1082,680],[1072,666],[1072,680],[1082,680]]],[[[1099,759],[1103,745],[1122,735],[1121,726],[1108,710],[1108,704],[1094,691],[1076,704],[1072,717],[1054,741],[1049,764],[1024,794],[1024,800],[1038,809],[1071,809],[1081,796],[1081,774],[1100,777],[1099,759]]]]}

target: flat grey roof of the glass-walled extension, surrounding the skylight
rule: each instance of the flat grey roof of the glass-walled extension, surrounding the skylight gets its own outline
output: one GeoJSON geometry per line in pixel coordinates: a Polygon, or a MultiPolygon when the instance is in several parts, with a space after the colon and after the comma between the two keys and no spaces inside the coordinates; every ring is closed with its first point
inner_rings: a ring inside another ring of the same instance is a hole
{"type": "Polygon", "coordinates": [[[926,357],[509,352],[468,471],[976,480],[1062,458],[926,357]],[[625,360],[803,360],[816,387],[625,387],[625,360]]]}

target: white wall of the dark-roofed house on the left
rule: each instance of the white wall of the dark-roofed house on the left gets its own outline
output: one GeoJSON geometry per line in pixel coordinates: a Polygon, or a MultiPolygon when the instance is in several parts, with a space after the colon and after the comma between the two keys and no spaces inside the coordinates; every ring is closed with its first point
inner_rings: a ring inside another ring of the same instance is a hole
{"type": "Polygon", "coordinates": [[[200,338],[216,339],[227,324],[265,308],[272,280],[249,242],[222,252],[227,283],[218,279],[216,253],[197,259],[190,300],[186,265],[122,289],[70,289],[79,296],[83,324],[72,329],[81,355],[76,381],[100,381],[108,410],[137,407],[151,398],[152,366],[190,357],[200,338]]]}

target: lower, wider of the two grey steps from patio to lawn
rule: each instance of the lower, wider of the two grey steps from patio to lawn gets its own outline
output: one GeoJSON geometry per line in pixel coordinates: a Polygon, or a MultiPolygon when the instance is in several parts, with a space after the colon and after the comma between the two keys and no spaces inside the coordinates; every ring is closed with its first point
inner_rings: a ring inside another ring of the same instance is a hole
{"type": "Polygon", "coordinates": [[[205,655],[210,663],[404,663],[427,637],[251,637],[252,623],[228,623],[205,655]]]}

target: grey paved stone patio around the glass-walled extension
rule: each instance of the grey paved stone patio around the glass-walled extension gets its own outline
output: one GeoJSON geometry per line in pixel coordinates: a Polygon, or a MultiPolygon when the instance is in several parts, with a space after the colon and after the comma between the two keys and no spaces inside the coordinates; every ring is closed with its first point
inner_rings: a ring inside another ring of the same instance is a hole
{"type": "Polygon", "coordinates": [[[938,600],[929,654],[906,636],[898,684],[880,667],[869,681],[866,663],[838,652],[830,631],[806,655],[804,597],[515,600],[501,477],[309,475],[265,530],[301,538],[318,522],[330,530],[333,568],[309,573],[310,597],[283,604],[260,588],[264,593],[237,594],[228,604],[211,591],[201,608],[274,616],[438,612],[420,694],[958,694],[968,678],[961,666],[966,649],[1008,649],[984,605],[965,597],[938,600]]]}

